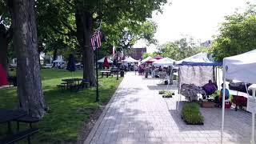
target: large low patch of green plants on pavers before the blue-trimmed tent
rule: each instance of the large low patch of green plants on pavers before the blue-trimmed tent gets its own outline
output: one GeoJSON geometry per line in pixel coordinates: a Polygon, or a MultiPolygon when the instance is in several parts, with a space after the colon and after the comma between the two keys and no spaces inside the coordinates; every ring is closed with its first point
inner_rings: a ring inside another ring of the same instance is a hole
{"type": "Polygon", "coordinates": [[[182,107],[182,119],[189,125],[203,125],[198,103],[186,102],[182,107]]]}

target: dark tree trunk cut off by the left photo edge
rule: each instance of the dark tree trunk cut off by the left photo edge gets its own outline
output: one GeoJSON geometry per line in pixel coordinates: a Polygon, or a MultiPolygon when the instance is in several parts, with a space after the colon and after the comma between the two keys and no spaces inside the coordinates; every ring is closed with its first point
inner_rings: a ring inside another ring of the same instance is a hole
{"type": "Polygon", "coordinates": [[[7,72],[7,49],[9,44],[6,27],[0,24],[0,64],[7,72]]]}

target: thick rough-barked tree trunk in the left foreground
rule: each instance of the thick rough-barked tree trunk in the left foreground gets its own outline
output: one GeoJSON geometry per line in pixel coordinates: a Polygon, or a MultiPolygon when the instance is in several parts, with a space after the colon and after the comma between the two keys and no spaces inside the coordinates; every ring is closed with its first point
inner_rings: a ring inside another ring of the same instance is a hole
{"type": "Polygon", "coordinates": [[[35,117],[45,114],[39,69],[38,38],[34,18],[34,0],[9,0],[17,54],[18,98],[22,110],[35,117]]]}

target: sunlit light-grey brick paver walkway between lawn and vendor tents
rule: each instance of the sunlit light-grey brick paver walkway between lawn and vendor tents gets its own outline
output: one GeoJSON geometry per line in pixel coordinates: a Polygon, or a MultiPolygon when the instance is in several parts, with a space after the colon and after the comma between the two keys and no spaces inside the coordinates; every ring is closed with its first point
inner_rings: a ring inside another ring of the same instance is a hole
{"type": "MultiPolygon", "coordinates": [[[[127,73],[90,143],[220,143],[221,109],[201,109],[203,126],[182,122],[174,98],[162,98],[159,79],[127,73]]],[[[250,143],[251,114],[226,110],[223,143],[250,143]]]]}

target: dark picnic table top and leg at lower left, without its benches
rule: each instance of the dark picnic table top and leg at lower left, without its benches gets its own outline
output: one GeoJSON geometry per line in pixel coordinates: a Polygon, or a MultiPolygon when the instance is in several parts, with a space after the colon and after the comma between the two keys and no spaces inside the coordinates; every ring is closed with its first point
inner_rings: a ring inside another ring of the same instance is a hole
{"type": "Polygon", "coordinates": [[[11,134],[11,121],[14,121],[17,118],[25,116],[26,112],[23,110],[6,110],[0,109],[0,123],[8,123],[8,134],[11,134]]]}

